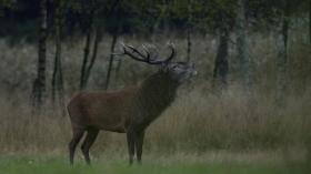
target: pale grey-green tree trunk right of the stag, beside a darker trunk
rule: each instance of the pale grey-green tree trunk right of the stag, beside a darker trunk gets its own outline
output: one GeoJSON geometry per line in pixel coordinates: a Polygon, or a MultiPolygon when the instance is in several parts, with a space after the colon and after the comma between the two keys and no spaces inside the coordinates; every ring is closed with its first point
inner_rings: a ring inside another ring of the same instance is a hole
{"type": "Polygon", "coordinates": [[[251,60],[249,57],[248,34],[245,18],[245,0],[238,0],[237,14],[237,48],[238,60],[240,61],[240,79],[247,91],[251,86],[251,60]]]}

